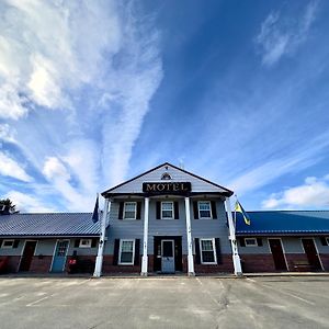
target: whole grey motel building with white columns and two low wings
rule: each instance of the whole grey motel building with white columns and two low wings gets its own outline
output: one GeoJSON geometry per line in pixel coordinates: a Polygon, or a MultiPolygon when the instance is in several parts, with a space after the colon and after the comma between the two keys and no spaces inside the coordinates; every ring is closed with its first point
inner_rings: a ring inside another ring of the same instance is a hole
{"type": "Polygon", "coordinates": [[[168,162],[102,193],[91,213],[0,209],[0,273],[241,275],[329,271],[329,212],[230,208],[232,191],[168,162]]]}

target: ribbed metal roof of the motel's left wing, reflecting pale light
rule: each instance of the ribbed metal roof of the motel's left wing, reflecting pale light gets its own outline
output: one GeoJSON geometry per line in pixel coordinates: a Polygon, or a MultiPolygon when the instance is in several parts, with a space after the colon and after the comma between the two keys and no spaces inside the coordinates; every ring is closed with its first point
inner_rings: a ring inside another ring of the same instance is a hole
{"type": "Polygon", "coordinates": [[[91,213],[12,214],[0,216],[0,236],[98,236],[91,213]]]}

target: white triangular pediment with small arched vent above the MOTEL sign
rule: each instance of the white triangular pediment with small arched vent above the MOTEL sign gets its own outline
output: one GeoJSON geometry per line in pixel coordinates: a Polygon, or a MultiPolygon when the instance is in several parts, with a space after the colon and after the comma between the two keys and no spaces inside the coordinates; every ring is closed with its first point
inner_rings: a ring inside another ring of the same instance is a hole
{"type": "Polygon", "coordinates": [[[169,162],[164,162],[156,168],[152,168],[122,184],[118,184],[102,193],[103,196],[111,194],[129,194],[143,193],[143,183],[168,183],[168,182],[190,182],[191,192],[200,193],[222,193],[230,196],[232,191],[213,183],[202,177],[198,177],[184,169],[175,167],[169,162]]]}

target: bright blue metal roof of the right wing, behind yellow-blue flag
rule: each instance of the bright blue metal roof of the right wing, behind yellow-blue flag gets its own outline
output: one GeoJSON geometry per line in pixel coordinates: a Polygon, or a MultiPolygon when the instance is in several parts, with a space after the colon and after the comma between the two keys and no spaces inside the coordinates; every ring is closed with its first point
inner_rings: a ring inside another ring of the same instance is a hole
{"type": "Polygon", "coordinates": [[[247,212],[250,225],[237,213],[237,236],[329,234],[329,211],[247,212]]]}

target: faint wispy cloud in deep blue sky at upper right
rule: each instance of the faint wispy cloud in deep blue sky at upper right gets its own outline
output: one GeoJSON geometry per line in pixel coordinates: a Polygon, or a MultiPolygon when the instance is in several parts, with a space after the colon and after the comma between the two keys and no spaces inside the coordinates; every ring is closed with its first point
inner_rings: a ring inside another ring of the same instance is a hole
{"type": "Polygon", "coordinates": [[[261,49],[262,63],[272,66],[284,55],[291,54],[306,41],[316,19],[318,1],[310,1],[304,13],[295,20],[279,12],[271,12],[261,25],[256,43],[261,49]]]}

